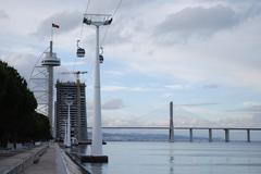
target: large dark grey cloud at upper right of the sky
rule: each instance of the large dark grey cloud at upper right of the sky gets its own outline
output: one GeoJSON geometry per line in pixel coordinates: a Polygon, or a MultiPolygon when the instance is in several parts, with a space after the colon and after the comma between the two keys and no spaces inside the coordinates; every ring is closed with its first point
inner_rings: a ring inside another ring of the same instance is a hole
{"type": "Polygon", "coordinates": [[[156,27],[154,34],[165,41],[173,41],[177,36],[206,37],[232,28],[239,22],[239,15],[228,7],[185,8],[166,16],[165,21],[156,27]]]}

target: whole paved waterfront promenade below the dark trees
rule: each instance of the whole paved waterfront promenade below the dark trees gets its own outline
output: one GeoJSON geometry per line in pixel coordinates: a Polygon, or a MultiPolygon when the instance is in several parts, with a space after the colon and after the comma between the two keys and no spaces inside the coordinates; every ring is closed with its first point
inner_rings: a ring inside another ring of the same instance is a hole
{"type": "Polygon", "coordinates": [[[49,144],[0,160],[0,174],[82,174],[58,144],[49,144]]]}

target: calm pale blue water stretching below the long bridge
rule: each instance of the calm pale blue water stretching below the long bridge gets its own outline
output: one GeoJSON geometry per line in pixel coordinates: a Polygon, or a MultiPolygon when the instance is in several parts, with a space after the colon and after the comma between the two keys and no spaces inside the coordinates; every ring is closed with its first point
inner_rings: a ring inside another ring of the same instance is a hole
{"type": "Polygon", "coordinates": [[[261,144],[108,142],[103,153],[108,164],[83,165],[92,174],[261,173],[261,144]]]}

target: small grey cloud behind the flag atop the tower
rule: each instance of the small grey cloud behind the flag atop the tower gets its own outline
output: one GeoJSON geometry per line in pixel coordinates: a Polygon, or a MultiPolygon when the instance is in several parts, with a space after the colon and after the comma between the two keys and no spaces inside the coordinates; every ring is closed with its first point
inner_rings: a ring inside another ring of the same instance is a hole
{"type": "Polygon", "coordinates": [[[52,23],[55,23],[60,26],[58,34],[67,33],[79,26],[82,24],[82,20],[83,14],[78,11],[63,11],[55,13],[42,21],[34,35],[40,38],[50,35],[52,23]]]}

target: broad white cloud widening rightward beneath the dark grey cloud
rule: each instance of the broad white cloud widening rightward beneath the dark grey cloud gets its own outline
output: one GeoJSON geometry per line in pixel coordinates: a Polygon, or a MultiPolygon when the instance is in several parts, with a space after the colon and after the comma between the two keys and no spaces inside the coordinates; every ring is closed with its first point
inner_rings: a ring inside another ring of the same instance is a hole
{"type": "Polygon", "coordinates": [[[260,90],[260,18],[256,18],[241,24],[233,33],[219,33],[208,40],[164,47],[140,40],[137,47],[112,48],[112,52],[135,49],[132,54],[122,54],[125,58],[122,61],[128,62],[134,72],[141,74],[260,90]]]}

